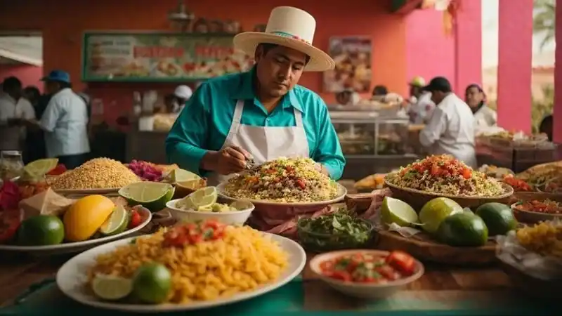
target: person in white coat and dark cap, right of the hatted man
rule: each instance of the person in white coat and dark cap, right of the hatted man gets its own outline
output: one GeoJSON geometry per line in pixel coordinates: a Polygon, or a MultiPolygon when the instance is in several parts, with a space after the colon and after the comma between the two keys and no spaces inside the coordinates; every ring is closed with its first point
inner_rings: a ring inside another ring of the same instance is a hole
{"type": "Polygon", "coordinates": [[[451,90],[444,77],[435,77],[424,86],[436,104],[428,124],[419,133],[419,142],[429,154],[451,154],[476,168],[474,116],[471,108],[451,90]]]}

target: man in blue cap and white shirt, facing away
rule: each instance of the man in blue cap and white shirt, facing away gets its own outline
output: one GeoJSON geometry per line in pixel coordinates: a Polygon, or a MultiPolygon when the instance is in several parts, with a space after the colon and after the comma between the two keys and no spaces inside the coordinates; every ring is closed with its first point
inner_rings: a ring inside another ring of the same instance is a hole
{"type": "Polygon", "coordinates": [[[53,70],[41,81],[45,81],[51,100],[34,125],[45,131],[47,157],[56,157],[67,169],[74,169],[88,159],[90,152],[86,103],[72,91],[67,72],[53,70]]]}

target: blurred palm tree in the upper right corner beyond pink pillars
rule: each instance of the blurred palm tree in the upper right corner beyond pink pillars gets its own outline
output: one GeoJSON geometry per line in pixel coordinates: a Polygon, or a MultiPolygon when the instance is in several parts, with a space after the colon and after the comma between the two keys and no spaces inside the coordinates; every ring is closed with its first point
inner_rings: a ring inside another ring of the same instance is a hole
{"type": "Polygon", "coordinates": [[[544,48],[551,41],[555,41],[556,3],[555,0],[535,0],[535,16],[532,19],[532,32],[541,34],[540,48],[544,48]]]}

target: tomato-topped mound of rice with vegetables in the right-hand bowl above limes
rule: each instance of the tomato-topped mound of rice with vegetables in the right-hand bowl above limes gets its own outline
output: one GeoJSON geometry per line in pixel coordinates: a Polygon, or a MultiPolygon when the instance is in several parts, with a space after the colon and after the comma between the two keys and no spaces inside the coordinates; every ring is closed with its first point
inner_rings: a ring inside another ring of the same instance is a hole
{"type": "Polygon", "coordinates": [[[502,184],[485,173],[474,171],[449,154],[417,160],[386,176],[398,187],[466,197],[495,197],[505,193],[502,184]]]}

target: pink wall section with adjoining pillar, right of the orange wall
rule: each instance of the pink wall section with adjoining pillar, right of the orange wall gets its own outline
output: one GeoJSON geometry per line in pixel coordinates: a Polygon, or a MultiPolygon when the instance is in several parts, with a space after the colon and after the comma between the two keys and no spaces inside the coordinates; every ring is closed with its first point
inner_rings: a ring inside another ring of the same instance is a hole
{"type": "Polygon", "coordinates": [[[407,78],[429,81],[443,76],[453,90],[464,94],[469,84],[482,82],[481,1],[463,1],[457,29],[451,36],[443,30],[443,12],[416,10],[406,19],[407,78]]]}

